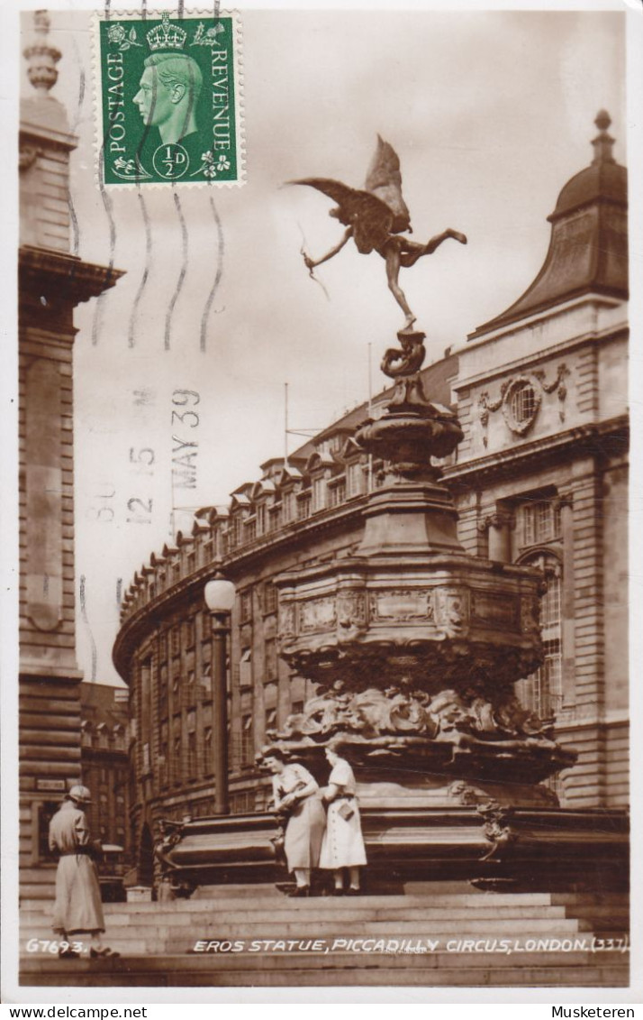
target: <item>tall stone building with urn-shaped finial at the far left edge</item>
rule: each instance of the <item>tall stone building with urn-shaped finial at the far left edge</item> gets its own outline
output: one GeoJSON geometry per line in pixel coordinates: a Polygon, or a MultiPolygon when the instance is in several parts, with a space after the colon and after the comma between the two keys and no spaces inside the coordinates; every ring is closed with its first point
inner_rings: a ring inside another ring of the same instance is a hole
{"type": "MultiPolygon", "coordinates": [[[[51,862],[48,812],[81,778],[81,680],[73,564],[73,310],[121,275],[69,254],[69,155],[76,146],[50,90],[61,53],[37,11],[24,49],[19,135],[20,884],[51,862]]],[[[93,187],[92,170],[88,187],[93,187]]],[[[81,185],[82,186],[82,185],[81,185]]],[[[38,874],[35,874],[38,872],[38,874]]]]}

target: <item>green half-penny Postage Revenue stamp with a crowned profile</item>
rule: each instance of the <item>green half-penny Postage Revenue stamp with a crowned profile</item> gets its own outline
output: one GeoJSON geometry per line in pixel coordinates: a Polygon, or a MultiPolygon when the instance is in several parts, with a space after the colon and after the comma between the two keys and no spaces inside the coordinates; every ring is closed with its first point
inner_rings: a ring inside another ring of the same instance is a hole
{"type": "Polygon", "coordinates": [[[239,39],[234,13],[99,18],[102,184],[243,182],[239,39]]]}

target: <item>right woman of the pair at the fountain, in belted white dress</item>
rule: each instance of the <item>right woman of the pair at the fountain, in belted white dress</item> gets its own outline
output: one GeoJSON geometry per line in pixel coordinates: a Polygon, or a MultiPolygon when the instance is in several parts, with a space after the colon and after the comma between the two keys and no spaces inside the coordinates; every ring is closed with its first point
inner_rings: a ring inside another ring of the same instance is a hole
{"type": "Polygon", "coordinates": [[[326,748],[326,760],[331,772],[328,785],[322,790],[328,815],[319,866],[334,872],[334,896],[344,895],[344,869],[349,872],[345,895],[359,896],[360,867],[366,864],[366,850],[355,796],[355,775],[349,762],[340,758],[332,746],[326,748]]]}

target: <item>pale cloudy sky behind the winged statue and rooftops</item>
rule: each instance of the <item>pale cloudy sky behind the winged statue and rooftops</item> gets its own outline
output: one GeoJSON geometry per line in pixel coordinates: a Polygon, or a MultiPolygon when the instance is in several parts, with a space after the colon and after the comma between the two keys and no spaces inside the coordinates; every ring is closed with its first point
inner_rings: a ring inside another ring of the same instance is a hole
{"type": "MultiPolygon", "coordinates": [[[[73,250],[125,272],[76,310],[74,348],[78,658],[87,679],[119,682],[118,592],[194,508],[227,503],[283,454],[284,384],[289,425],[308,430],[367,399],[369,345],[374,393],[386,382],[377,365],[403,321],[383,262],[346,246],[317,270],[323,288],[311,280],[302,247],[318,257],[341,227],[328,199],[286,182],[362,187],[377,134],[391,143],[415,240],[447,226],[469,239],[403,271],[437,360],[538,272],[546,216],[590,163],[601,108],[627,162],[625,17],[244,11],[246,184],[112,188],[109,208],[95,178],[91,17],[51,17],[62,53],[52,94],[78,136],[73,250]],[[185,409],[197,417],[172,417],[185,409]],[[172,487],[182,442],[198,443],[195,489],[172,487]]],[[[289,451],[301,442],[290,436],[289,451]]]]}

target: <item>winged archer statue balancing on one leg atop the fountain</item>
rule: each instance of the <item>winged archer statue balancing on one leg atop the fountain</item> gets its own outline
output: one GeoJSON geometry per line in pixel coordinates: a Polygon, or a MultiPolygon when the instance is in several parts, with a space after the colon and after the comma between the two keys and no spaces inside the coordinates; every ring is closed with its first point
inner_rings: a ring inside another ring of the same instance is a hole
{"type": "Polygon", "coordinates": [[[376,251],[384,259],[388,287],[405,313],[405,328],[410,329],[416,316],[399,286],[400,268],[407,269],[424,255],[432,255],[447,238],[453,238],[463,245],[467,244],[467,238],[450,228],[437,234],[425,245],[400,237],[413,232],[409,209],[401,194],[399,158],[392,146],[377,136],[377,149],[362,191],[349,188],[340,181],[332,181],[330,177],[303,177],[301,181],[291,181],[290,184],[316,188],[336,202],[336,207],[330,210],[329,215],[346,227],[339,244],[321,258],[312,259],[303,253],[311,274],[315,266],[327,262],[353,238],[358,251],[363,255],[376,251]]]}

